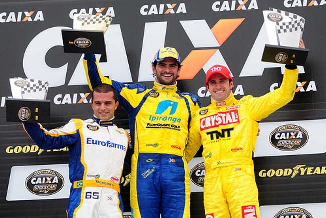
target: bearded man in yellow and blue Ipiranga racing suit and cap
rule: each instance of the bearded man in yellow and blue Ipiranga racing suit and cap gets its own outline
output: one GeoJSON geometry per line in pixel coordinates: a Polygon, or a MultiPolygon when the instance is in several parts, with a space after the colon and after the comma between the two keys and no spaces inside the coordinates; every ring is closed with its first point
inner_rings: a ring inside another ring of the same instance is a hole
{"type": "Polygon", "coordinates": [[[134,146],[131,165],[131,207],[134,217],[190,217],[190,190],[185,145],[197,96],[177,89],[180,73],[177,50],[158,50],[152,62],[154,86],[125,85],[104,77],[93,54],[85,54],[89,87],[111,84],[128,112],[134,146]]]}

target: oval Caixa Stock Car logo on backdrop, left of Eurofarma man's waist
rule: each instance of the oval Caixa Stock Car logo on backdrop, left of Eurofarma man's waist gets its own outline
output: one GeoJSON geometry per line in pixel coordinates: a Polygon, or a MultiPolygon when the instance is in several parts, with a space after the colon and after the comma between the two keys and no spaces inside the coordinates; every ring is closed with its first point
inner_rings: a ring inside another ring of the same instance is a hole
{"type": "Polygon", "coordinates": [[[30,174],[25,180],[25,187],[32,194],[49,196],[59,192],[64,185],[63,176],[54,170],[41,169],[30,174]]]}

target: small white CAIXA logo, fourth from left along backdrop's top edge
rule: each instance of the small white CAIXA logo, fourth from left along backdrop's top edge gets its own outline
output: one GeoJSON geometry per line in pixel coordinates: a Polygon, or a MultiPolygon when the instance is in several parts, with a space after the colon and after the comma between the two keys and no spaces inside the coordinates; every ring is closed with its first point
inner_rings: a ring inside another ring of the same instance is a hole
{"type": "Polygon", "coordinates": [[[258,10],[258,4],[256,0],[251,0],[250,2],[249,0],[215,1],[212,4],[212,10],[214,12],[252,9],[258,10]]]}

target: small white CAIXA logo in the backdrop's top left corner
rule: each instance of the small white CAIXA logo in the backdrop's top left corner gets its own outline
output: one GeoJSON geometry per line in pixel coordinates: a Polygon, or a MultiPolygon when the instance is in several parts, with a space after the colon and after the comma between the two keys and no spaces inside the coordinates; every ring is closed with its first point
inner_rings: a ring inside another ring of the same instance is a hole
{"type": "Polygon", "coordinates": [[[23,11],[23,12],[2,12],[0,13],[0,22],[35,22],[44,21],[43,12],[23,11]]]}

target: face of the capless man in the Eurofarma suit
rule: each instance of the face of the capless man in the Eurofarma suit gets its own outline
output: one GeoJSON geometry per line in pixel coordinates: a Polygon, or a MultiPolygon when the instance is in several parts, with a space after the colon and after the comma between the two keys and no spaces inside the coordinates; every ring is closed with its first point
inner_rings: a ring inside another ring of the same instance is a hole
{"type": "Polygon", "coordinates": [[[114,117],[114,111],[118,108],[119,102],[113,98],[113,92],[99,93],[93,92],[91,106],[94,115],[100,120],[111,120],[114,117]]]}

